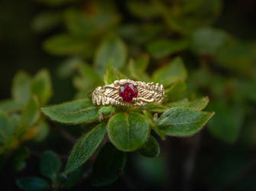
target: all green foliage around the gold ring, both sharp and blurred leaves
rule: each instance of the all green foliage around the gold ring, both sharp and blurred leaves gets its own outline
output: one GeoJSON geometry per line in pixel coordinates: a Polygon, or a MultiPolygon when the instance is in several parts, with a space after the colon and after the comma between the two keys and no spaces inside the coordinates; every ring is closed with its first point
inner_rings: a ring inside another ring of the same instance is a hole
{"type": "Polygon", "coordinates": [[[50,102],[59,87],[53,91],[48,70],[34,76],[19,71],[11,99],[0,102],[0,154],[5,163],[11,159],[17,172],[33,153],[26,143],[44,144],[53,127],[69,140],[73,134],[79,139],[67,161],[44,151],[41,176],[18,178],[20,189],[70,189],[91,162],[92,185],[106,186],[118,180],[134,151],[144,156],[135,157],[138,174],[157,182],[158,173],[164,173],[160,151],[167,138],[190,140],[208,121],[203,132],[221,143],[255,134],[242,127],[256,124],[256,46],[215,27],[224,1],[38,2],[48,7],[31,26],[47,36],[42,48],[60,57],[54,72],[72,81],[75,93],[67,102],[50,102]],[[92,90],[116,79],[163,84],[164,102],[131,108],[93,105],[92,90]]]}

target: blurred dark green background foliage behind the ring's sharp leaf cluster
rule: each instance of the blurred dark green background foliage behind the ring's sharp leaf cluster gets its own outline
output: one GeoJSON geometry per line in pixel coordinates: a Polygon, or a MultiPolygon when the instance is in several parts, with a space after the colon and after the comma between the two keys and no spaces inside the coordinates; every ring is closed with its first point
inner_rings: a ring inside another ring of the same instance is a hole
{"type": "MultiPolygon", "coordinates": [[[[104,84],[110,65],[133,79],[147,82],[152,76],[170,86],[172,102],[209,95],[206,110],[215,116],[192,138],[160,142],[160,157],[130,154],[125,172],[107,189],[256,190],[255,5],[253,0],[0,2],[0,125],[10,127],[0,138],[2,190],[18,189],[15,180],[21,176],[46,176],[53,185],[62,181],[60,160],[66,161],[81,130],[58,130],[39,108],[86,97],[104,84]],[[57,161],[55,171],[41,170],[39,157],[57,161]]],[[[78,170],[59,188],[95,189],[91,167],[85,168],[82,179],[78,170]]]]}

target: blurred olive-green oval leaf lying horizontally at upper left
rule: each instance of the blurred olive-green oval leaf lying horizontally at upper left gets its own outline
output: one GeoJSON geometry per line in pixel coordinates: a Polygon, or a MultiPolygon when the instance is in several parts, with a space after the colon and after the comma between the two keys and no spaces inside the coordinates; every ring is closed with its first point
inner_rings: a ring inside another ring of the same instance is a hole
{"type": "Polygon", "coordinates": [[[55,55],[73,55],[76,53],[86,53],[88,44],[78,37],[69,34],[58,34],[44,41],[44,50],[55,55]]]}

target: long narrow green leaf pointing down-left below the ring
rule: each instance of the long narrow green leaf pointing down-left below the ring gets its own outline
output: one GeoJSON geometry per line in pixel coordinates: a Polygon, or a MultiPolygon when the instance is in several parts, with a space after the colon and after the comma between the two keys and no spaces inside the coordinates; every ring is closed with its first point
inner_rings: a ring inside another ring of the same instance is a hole
{"type": "Polygon", "coordinates": [[[92,128],[91,131],[83,134],[76,142],[70,157],[66,163],[64,173],[71,173],[73,170],[79,168],[92,154],[96,151],[99,144],[102,142],[106,134],[106,124],[102,123],[92,128]]]}

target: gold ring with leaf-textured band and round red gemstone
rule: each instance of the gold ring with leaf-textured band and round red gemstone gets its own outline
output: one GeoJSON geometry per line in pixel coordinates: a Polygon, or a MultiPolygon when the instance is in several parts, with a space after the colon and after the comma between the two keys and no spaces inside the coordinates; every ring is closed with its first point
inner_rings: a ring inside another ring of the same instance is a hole
{"type": "Polygon", "coordinates": [[[92,92],[95,105],[146,105],[160,103],[164,99],[164,86],[159,83],[144,83],[131,79],[115,80],[114,83],[99,86],[92,92]]]}

